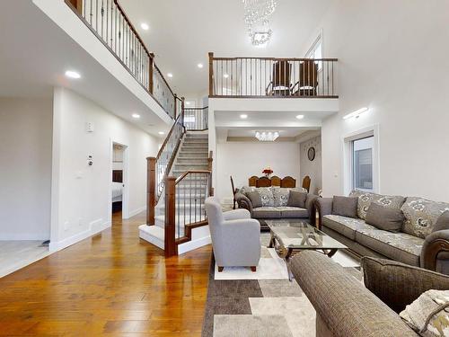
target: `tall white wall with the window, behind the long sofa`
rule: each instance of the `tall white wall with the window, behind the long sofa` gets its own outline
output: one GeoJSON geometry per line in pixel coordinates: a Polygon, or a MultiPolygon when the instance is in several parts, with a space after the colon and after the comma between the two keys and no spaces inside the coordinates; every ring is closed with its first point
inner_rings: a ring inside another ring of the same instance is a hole
{"type": "Polygon", "coordinates": [[[325,196],[343,192],[342,137],[378,125],[378,190],[449,201],[447,13],[436,0],[336,0],[326,13],[317,31],[323,57],[339,58],[340,111],[322,125],[325,196]]]}

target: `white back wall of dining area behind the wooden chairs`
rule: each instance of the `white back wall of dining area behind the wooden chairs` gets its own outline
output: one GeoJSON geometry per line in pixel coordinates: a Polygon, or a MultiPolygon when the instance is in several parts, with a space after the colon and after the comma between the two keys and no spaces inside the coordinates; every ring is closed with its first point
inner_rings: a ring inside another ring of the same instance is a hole
{"type": "Polygon", "coordinates": [[[280,178],[290,175],[301,184],[299,144],[293,142],[226,142],[216,146],[216,196],[222,202],[232,202],[229,176],[236,188],[248,186],[248,178],[261,176],[270,166],[280,178]]]}

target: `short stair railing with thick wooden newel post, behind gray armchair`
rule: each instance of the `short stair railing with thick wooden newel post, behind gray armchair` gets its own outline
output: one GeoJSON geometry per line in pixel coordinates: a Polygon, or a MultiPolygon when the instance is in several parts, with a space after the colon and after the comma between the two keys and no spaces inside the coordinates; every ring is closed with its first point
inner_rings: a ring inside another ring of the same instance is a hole
{"type": "Polygon", "coordinates": [[[207,225],[204,203],[214,195],[212,187],[213,153],[207,159],[207,170],[192,170],[165,178],[165,256],[178,254],[178,244],[191,239],[191,230],[207,225]]]}

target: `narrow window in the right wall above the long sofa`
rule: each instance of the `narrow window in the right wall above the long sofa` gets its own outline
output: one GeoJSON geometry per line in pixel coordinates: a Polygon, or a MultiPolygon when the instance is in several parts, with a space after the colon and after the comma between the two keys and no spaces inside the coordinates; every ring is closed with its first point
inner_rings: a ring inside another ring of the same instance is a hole
{"type": "Polygon", "coordinates": [[[352,189],[374,191],[374,136],[352,141],[352,189]]]}

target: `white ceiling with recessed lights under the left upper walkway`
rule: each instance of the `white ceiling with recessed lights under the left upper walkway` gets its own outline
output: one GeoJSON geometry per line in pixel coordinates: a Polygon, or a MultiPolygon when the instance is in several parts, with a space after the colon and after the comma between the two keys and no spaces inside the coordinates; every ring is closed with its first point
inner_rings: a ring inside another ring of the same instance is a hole
{"type": "Polygon", "coordinates": [[[0,31],[0,97],[49,98],[54,86],[64,86],[156,137],[170,129],[31,1],[0,2],[0,31]],[[82,78],[66,78],[67,69],[82,78]]]}

